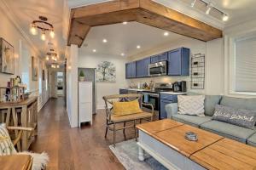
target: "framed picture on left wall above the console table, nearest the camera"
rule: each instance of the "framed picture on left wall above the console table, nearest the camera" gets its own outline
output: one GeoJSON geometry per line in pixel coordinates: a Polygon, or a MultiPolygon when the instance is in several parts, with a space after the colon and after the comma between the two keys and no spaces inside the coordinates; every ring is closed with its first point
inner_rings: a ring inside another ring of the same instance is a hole
{"type": "Polygon", "coordinates": [[[0,38],[0,72],[15,74],[15,48],[0,38]]]}

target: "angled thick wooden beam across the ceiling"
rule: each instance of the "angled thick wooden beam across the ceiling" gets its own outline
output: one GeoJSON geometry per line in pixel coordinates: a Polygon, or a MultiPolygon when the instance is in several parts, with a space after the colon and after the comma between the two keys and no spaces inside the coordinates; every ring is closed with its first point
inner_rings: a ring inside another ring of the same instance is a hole
{"type": "Polygon", "coordinates": [[[114,0],[73,8],[67,44],[80,47],[90,27],[123,21],[137,21],[205,42],[222,37],[221,30],[152,0],[114,0]]]}

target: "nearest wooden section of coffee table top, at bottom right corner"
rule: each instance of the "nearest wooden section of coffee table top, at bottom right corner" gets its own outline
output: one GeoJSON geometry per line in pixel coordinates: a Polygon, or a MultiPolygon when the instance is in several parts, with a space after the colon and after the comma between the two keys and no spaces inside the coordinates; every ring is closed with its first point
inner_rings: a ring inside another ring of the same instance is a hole
{"type": "Polygon", "coordinates": [[[256,148],[221,139],[196,152],[190,159],[207,169],[256,169],[256,148]]]}

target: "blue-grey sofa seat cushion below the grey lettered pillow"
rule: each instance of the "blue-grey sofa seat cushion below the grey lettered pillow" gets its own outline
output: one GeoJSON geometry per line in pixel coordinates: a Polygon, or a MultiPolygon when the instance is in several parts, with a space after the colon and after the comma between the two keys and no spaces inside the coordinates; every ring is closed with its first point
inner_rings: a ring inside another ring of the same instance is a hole
{"type": "Polygon", "coordinates": [[[242,143],[246,143],[247,138],[256,132],[255,130],[246,127],[239,127],[227,122],[218,121],[206,122],[201,124],[200,127],[204,130],[210,131],[212,133],[217,133],[221,136],[229,139],[234,139],[242,143]]]}

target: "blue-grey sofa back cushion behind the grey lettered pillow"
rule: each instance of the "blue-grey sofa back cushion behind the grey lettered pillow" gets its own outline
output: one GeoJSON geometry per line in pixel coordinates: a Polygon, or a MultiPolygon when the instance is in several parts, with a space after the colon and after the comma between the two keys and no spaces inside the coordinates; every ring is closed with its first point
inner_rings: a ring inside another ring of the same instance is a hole
{"type": "Polygon", "coordinates": [[[256,98],[254,99],[241,99],[223,96],[220,105],[233,107],[236,109],[244,109],[249,111],[256,111],[256,98]]]}

